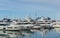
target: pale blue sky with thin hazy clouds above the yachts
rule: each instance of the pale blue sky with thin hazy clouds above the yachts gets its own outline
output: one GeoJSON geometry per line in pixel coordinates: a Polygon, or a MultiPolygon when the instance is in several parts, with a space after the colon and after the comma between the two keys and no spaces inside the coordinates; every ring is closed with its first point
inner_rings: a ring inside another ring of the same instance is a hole
{"type": "Polygon", "coordinates": [[[36,18],[36,15],[60,19],[60,0],[0,0],[0,18],[36,18]]]}

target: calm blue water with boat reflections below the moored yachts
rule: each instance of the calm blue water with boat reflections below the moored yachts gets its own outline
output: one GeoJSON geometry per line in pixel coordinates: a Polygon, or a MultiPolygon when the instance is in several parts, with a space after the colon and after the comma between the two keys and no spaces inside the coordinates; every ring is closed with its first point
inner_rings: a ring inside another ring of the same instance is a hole
{"type": "Polygon", "coordinates": [[[0,38],[60,38],[60,28],[31,31],[0,31],[0,38]]]}

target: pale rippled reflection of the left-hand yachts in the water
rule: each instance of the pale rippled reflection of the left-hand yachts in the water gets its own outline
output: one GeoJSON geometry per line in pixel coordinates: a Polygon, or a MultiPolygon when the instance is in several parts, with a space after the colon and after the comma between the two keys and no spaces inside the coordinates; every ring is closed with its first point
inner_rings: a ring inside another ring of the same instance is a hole
{"type": "Polygon", "coordinates": [[[33,34],[31,31],[0,31],[0,38],[24,38],[33,34]]]}

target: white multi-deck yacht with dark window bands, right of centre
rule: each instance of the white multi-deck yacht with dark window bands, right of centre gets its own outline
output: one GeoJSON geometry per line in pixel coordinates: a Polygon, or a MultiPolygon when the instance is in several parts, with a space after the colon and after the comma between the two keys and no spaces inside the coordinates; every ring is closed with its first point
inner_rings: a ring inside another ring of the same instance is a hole
{"type": "Polygon", "coordinates": [[[40,24],[40,26],[51,26],[52,25],[51,18],[49,17],[38,17],[36,19],[36,22],[40,24]]]}

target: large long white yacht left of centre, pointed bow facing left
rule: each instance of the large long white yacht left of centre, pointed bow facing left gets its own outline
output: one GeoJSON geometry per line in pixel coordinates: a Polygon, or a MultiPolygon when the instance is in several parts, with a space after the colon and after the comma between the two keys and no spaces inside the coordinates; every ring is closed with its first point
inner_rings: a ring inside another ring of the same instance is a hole
{"type": "Polygon", "coordinates": [[[31,22],[30,19],[26,19],[25,21],[22,20],[13,20],[9,26],[7,26],[7,30],[21,30],[21,29],[30,29],[32,28],[34,25],[32,24],[33,22],[31,22]]]}

